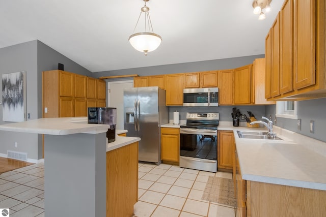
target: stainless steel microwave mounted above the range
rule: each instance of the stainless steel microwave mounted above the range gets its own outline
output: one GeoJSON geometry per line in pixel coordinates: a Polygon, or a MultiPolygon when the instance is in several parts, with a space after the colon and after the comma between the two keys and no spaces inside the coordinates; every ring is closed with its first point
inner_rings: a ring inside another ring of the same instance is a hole
{"type": "Polygon", "coordinates": [[[214,107],[219,106],[219,88],[183,89],[183,106],[214,107]]]}

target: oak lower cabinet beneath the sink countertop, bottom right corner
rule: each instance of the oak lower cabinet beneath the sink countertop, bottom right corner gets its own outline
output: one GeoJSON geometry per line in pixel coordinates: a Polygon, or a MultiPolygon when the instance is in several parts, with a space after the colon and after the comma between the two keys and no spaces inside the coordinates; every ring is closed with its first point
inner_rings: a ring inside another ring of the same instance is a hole
{"type": "Polygon", "coordinates": [[[236,151],[234,160],[238,217],[325,216],[326,191],[243,180],[236,151]]]}

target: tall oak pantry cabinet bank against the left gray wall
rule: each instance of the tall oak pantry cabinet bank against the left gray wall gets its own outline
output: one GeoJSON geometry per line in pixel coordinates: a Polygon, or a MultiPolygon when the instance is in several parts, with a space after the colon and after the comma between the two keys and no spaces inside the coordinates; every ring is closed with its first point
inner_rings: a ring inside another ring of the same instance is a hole
{"type": "Polygon", "coordinates": [[[43,117],[87,116],[87,107],[105,107],[104,86],[105,81],[99,79],[61,70],[44,71],[43,117]]]}

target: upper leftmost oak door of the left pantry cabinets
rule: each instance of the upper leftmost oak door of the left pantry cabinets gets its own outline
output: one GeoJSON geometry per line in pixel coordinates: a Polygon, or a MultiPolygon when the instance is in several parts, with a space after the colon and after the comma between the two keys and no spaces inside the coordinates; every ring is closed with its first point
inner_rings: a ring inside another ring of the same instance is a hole
{"type": "Polygon", "coordinates": [[[59,74],[60,96],[73,97],[74,95],[73,77],[74,77],[73,73],[60,71],[59,74]]]}

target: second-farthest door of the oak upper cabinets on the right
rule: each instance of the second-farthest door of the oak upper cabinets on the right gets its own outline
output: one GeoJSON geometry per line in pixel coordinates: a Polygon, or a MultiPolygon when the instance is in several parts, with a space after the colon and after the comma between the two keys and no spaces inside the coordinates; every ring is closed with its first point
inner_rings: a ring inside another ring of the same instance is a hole
{"type": "Polygon", "coordinates": [[[280,13],[278,13],[271,26],[271,83],[270,95],[276,97],[280,95],[280,13]]]}

